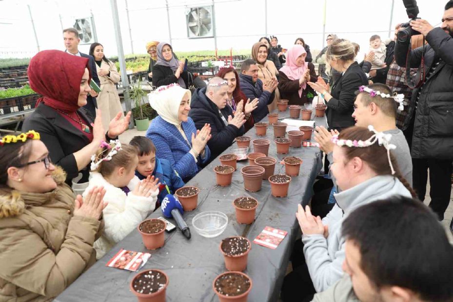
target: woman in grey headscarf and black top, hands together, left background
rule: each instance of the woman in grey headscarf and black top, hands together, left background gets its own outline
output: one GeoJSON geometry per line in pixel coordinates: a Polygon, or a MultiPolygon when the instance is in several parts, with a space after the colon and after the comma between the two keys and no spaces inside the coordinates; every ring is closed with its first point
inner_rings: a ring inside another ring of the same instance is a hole
{"type": "Polygon", "coordinates": [[[189,87],[189,74],[184,71],[184,62],[177,60],[170,44],[161,42],[157,47],[158,60],[153,68],[153,85],[156,87],[176,83],[189,87]]]}

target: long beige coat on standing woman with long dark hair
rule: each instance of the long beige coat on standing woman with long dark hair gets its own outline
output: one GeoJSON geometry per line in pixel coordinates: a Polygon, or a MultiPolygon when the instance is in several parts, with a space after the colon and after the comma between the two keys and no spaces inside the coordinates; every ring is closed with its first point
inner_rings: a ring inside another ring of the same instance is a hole
{"type": "MultiPolygon", "coordinates": [[[[96,98],[98,101],[98,108],[102,112],[102,125],[104,126],[104,130],[107,131],[110,121],[116,117],[118,112],[123,112],[121,103],[119,102],[118,91],[115,87],[115,83],[119,82],[120,76],[118,74],[117,66],[115,66],[115,64],[111,61],[107,64],[104,60],[102,60],[100,68],[98,64],[96,64],[96,69],[98,72],[101,69],[107,69],[110,71],[110,77],[99,76],[100,89],[102,90],[96,98]]],[[[124,113],[122,116],[124,117],[124,113]]]]}

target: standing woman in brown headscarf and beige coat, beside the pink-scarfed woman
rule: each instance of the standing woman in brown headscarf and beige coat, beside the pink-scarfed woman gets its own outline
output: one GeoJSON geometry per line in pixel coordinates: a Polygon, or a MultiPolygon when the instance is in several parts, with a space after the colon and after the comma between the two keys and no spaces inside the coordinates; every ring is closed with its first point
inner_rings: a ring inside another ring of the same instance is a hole
{"type": "MultiPolygon", "coordinates": [[[[258,79],[263,81],[266,84],[271,79],[276,79],[278,77],[278,70],[273,61],[267,60],[268,56],[268,47],[266,44],[257,42],[252,46],[252,59],[256,60],[258,66],[258,79]]],[[[272,103],[268,106],[269,112],[277,108],[277,102],[280,101],[280,92],[278,88],[275,90],[275,97],[272,103]]]]}

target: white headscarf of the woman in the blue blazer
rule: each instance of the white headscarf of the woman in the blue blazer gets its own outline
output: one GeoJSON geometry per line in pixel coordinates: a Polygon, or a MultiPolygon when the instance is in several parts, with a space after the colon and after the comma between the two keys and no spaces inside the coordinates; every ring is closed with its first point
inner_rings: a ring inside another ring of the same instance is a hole
{"type": "Polygon", "coordinates": [[[192,97],[188,89],[181,88],[177,84],[160,86],[155,91],[148,94],[149,104],[157,111],[158,115],[164,120],[177,127],[181,121],[178,120],[179,105],[184,96],[192,97]]]}

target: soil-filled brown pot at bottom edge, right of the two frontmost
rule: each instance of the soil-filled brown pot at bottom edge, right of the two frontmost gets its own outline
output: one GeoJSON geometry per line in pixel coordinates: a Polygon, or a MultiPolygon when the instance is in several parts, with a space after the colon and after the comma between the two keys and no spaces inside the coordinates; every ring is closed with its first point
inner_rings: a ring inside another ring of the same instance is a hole
{"type": "Polygon", "coordinates": [[[212,284],[220,302],[247,302],[252,285],[252,279],[242,272],[222,273],[212,284]]]}

